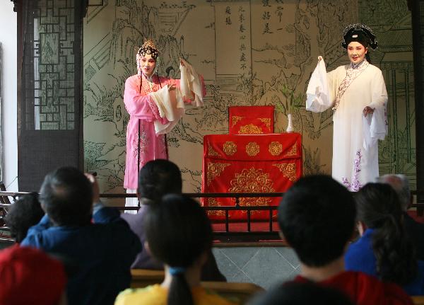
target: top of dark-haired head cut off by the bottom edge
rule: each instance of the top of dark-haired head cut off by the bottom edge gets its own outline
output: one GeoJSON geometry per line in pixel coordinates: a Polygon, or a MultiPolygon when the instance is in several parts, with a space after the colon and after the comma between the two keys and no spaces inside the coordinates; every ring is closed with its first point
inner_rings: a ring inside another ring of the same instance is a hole
{"type": "Polygon", "coordinates": [[[249,305],[353,305],[343,292],[313,282],[287,282],[270,289],[249,305]]]}

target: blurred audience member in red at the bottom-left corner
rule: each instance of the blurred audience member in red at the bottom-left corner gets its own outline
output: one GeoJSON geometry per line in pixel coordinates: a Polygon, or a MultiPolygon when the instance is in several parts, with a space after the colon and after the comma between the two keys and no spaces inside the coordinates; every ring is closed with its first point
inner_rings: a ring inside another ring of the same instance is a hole
{"type": "Polygon", "coordinates": [[[35,248],[0,251],[0,305],[65,305],[63,265],[35,248]]]}

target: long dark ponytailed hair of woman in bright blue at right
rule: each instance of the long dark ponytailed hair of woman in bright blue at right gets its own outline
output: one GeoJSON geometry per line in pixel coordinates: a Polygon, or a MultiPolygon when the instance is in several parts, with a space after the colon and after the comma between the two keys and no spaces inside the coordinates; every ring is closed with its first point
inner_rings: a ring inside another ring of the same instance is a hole
{"type": "Polygon", "coordinates": [[[377,260],[377,275],[401,285],[411,282],[417,275],[417,260],[402,223],[396,191],[387,184],[367,183],[355,200],[358,220],[374,229],[372,250],[377,260]]]}

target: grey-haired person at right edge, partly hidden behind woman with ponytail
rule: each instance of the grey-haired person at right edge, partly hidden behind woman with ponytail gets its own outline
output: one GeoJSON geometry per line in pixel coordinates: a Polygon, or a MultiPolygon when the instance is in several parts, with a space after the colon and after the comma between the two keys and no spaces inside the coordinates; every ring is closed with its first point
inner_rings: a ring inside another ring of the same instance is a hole
{"type": "Polygon", "coordinates": [[[402,210],[404,212],[404,226],[406,234],[411,238],[416,248],[418,260],[424,260],[424,224],[420,224],[409,216],[407,210],[411,207],[413,196],[409,189],[409,181],[405,175],[382,175],[377,178],[379,183],[387,183],[396,190],[399,200],[401,200],[402,210]]]}

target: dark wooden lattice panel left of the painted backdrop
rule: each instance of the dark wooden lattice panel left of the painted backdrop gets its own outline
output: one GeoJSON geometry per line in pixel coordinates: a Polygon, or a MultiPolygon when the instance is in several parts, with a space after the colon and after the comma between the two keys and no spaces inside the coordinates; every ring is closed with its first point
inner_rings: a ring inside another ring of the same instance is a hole
{"type": "Polygon", "coordinates": [[[34,1],[33,11],[33,33],[27,34],[27,38],[32,36],[32,45],[28,39],[25,42],[25,127],[73,130],[76,120],[74,0],[34,1]],[[28,56],[29,52],[32,56],[28,56]]]}

